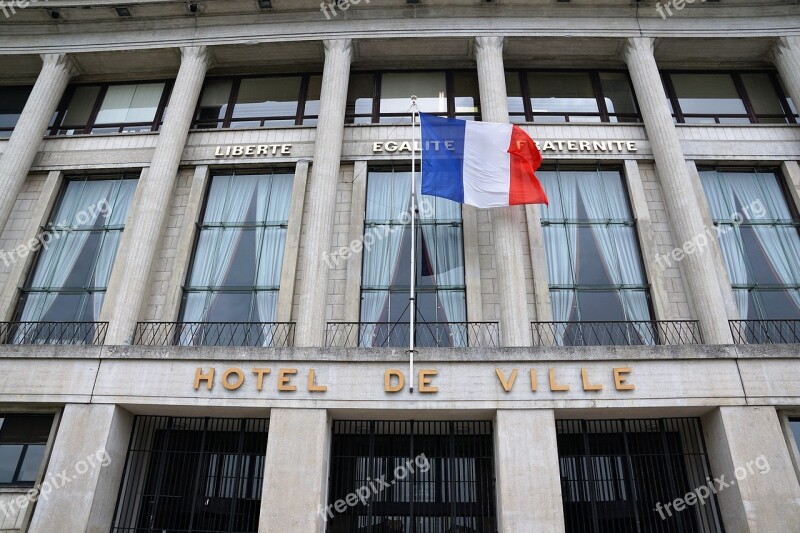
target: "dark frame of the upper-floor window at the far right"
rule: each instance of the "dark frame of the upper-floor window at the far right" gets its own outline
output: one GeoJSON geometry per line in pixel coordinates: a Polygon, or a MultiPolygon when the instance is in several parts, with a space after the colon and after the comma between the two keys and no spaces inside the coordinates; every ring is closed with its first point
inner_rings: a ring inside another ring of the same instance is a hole
{"type": "MultiPolygon", "coordinates": [[[[661,81],[664,85],[664,90],[667,93],[667,99],[672,104],[672,117],[678,124],[690,124],[692,126],[708,126],[708,123],[698,123],[698,122],[686,122],[686,117],[689,118],[711,118],[714,119],[714,124],[721,124],[723,126],[736,126],[737,124],[723,124],[720,122],[720,119],[724,118],[747,118],[750,124],[767,124],[771,126],[777,126],[780,124],[771,123],[771,122],[760,122],[761,119],[783,119],[785,120],[785,124],[798,124],[800,123],[800,117],[792,113],[792,108],[789,106],[789,101],[786,93],[783,90],[783,87],[780,83],[780,78],[778,77],[778,73],[774,70],[712,70],[712,71],[700,71],[702,74],[727,74],[731,77],[733,81],[734,87],[736,87],[736,93],[739,96],[742,104],[744,105],[745,114],[713,114],[713,113],[684,113],[681,109],[679,96],[677,91],[675,90],[675,85],[672,82],[672,75],[673,74],[698,74],[699,71],[696,70],[662,70],[660,71],[661,74],[661,81]],[[758,115],[753,108],[753,104],[750,101],[750,96],[747,94],[747,89],[745,88],[744,81],[742,80],[742,74],[766,74],[769,77],[770,82],[772,82],[772,88],[775,90],[775,94],[778,95],[778,103],[783,109],[783,115],[758,115]]],[[[741,125],[741,124],[740,124],[741,125]]]]}

